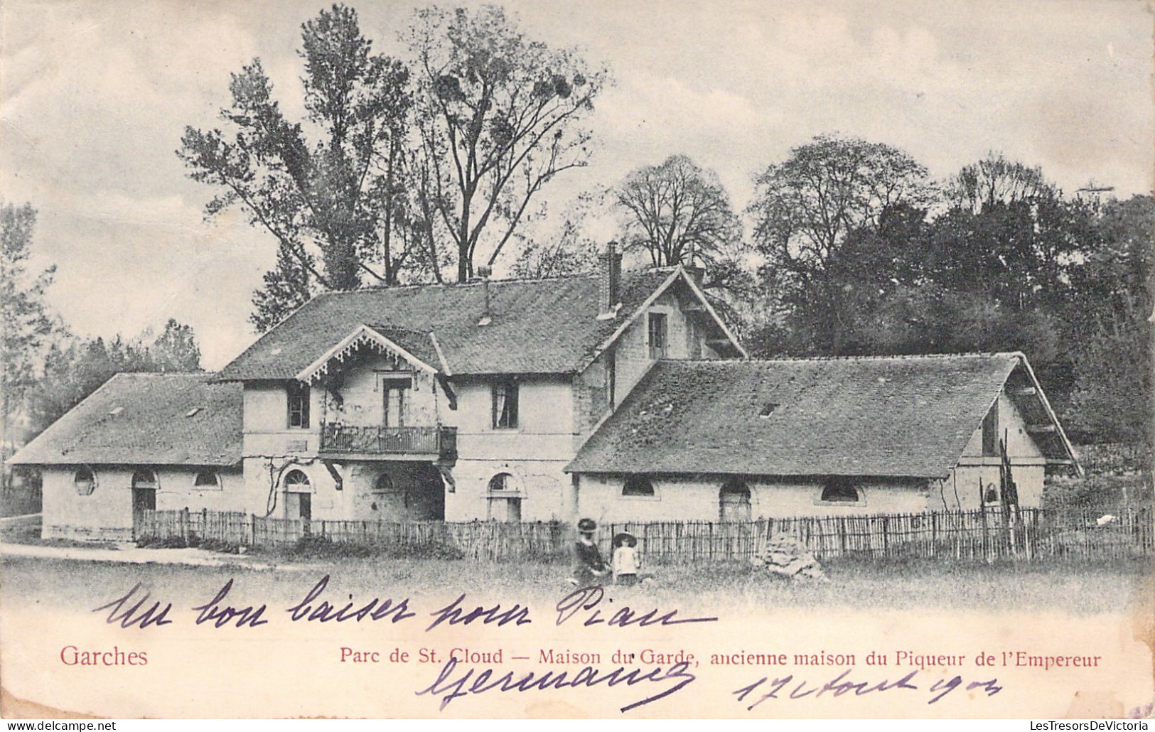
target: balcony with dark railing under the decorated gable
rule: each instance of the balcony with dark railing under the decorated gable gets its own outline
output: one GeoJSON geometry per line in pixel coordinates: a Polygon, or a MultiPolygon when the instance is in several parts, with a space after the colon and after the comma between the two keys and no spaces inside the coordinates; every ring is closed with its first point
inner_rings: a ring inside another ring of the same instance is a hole
{"type": "Polygon", "coordinates": [[[457,428],[355,427],[321,425],[321,454],[343,457],[390,456],[408,460],[456,460],[457,428]]]}

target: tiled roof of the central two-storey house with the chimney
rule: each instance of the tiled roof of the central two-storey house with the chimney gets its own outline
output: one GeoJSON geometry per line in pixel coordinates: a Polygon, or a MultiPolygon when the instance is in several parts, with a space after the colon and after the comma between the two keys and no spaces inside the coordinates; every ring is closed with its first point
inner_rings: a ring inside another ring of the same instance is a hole
{"type": "Polygon", "coordinates": [[[597,345],[670,276],[671,270],[624,271],[616,320],[597,320],[598,279],[490,283],[487,326],[480,283],[372,287],[318,296],[225,366],[221,380],[292,379],[358,326],[372,326],[441,368],[432,333],[454,374],[575,373],[597,345]],[[398,334],[402,341],[394,338],[398,334]],[[424,356],[423,356],[424,354],[424,356]]]}

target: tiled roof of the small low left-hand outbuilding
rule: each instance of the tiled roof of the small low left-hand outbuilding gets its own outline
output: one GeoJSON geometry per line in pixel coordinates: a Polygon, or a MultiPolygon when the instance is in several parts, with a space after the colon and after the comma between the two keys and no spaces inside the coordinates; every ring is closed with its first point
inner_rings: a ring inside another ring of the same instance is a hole
{"type": "Polygon", "coordinates": [[[241,387],[215,383],[214,376],[117,374],[8,462],[234,465],[241,454],[241,387]]]}

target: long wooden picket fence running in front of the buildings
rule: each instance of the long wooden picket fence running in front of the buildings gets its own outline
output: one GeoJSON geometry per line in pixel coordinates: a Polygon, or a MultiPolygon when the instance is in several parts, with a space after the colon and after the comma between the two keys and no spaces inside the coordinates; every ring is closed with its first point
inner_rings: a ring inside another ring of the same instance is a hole
{"type": "MultiPolygon", "coordinates": [[[[797,538],[821,561],[858,557],[1091,562],[1153,553],[1149,508],[1110,511],[1111,521],[1101,521],[1103,515],[1026,508],[1011,514],[985,509],[750,522],[625,522],[603,524],[598,533],[603,557],[609,557],[612,537],[628,531],[638,538],[647,563],[656,565],[751,561],[768,539],[780,536],[797,538]]],[[[449,550],[476,561],[558,560],[569,555],[574,541],[573,530],[558,522],[304,521],[188,509],[140,511],[134,533],[139,539],[180,539],[187,545],[211,539],[284,547],[311,539],[400,554],[449,550]]]]}

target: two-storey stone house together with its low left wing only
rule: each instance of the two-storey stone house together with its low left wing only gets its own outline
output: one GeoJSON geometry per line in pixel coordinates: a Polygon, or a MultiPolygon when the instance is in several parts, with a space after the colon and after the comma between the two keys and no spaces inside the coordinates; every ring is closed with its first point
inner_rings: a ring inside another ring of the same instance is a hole
{"type": "Polygon", "coordinates": [[[118,375],[9,462],[44,472],[45,536],[126,538],[134,506],[568,521],[566,464],[654,364],[746,356],[696,277],[611,249],[594,275],[325,293],[217,374],[118,375]]]}

